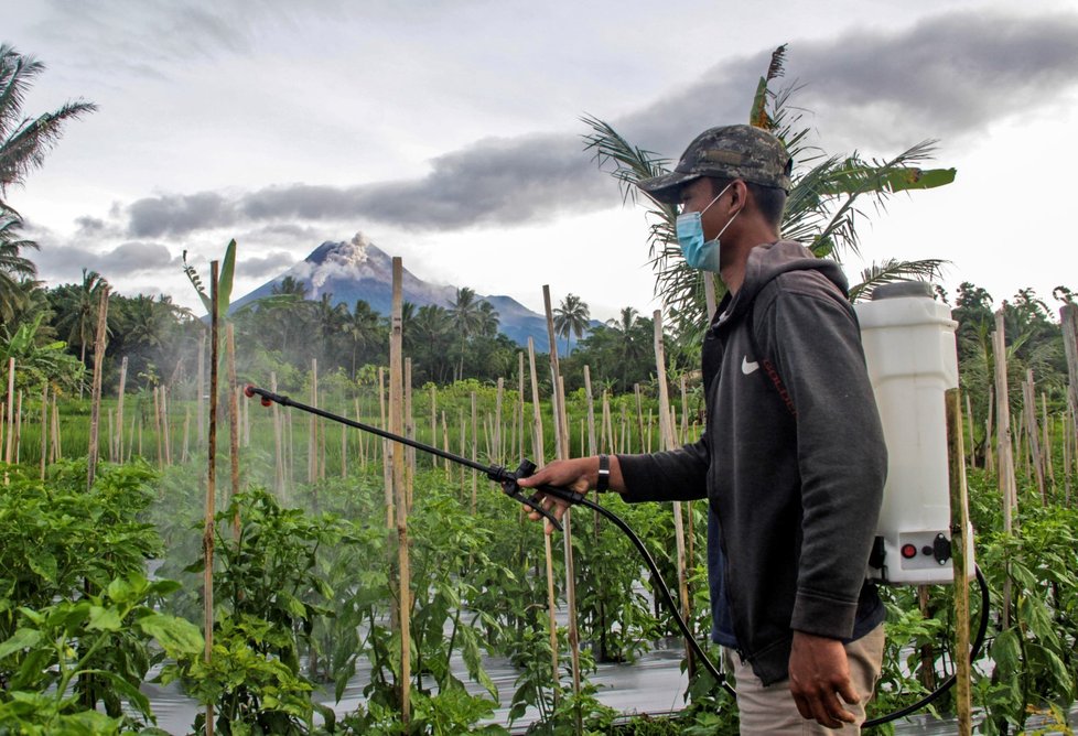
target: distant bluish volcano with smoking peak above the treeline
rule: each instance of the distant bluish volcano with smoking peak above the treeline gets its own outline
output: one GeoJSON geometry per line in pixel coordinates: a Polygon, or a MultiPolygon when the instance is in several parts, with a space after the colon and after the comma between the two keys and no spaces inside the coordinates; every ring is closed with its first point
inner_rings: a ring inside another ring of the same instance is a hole
{"type": "MultiPolygon", "coordinates": [[[[362,299],[379,314],[389,314],[392,301],[392,259],[362,232],[357,232],[349,242],[323,242],[300,263],[233,302],[230,310],[270,296],[273,286],[279,285],[285,277],[306,284],[308,299],[319,300],[322,294],[333,294],[334,304],[343,303],[349,310],[356,300],[362,299]]],[[[449,309],[456,299],[456,286],[427,283],[408,269],[403,270],[402,285],[405,301],[417,306],[436,304],[449,309]]],[[[491,302],[497,310],[498,328],[506,337],[520,346],[527,346],[528,338],[531,337],[536,350],[550,350],[547,320],[541,314],[504,294],[477,295],[477,299],[491,302]]],[[[592,326],[599,324],[597,321],[592,321],[592,326]]],[[[567,348],[567,340],[558,338],[558,351],[564,354],[567,348]]]]}

